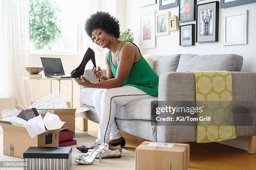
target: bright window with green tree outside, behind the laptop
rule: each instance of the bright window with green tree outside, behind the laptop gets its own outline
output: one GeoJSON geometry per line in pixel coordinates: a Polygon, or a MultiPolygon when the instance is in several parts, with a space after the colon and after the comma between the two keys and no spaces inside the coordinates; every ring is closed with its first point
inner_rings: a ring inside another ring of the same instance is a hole
{"type": "Polygon", "coordinates": [[[96,3],[90,0],[31,0],[30,6],[31,53],[77,54],[79,29],[90,15],[87,8],[93,8],[96,3]]]}

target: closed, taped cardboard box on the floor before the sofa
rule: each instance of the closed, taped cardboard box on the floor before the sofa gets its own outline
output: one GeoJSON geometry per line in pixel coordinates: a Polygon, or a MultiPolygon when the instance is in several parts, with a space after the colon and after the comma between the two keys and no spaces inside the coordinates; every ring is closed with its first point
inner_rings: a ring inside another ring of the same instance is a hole
{"type": "Polygon", "coordinates": [[[187,170],[189,144],[143,142],[136,148],[136,170],[187,170]]]}

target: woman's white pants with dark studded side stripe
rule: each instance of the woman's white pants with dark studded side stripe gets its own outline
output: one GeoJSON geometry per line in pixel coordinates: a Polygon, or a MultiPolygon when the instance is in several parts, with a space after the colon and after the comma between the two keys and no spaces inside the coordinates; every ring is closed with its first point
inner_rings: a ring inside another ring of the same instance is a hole
{"type": "Polygon", "coordinates": [[[100,115],[98,138],[105,143],[110,140],[121,138],[122,135],[115,122],[115,106],[126,105],[135,100],[146,98],[157,98],[132,86],[115,87],[109,89],[98,89],[93,93],[93,105],[100,115]],[[110,128],[111,127],[111,128],[110,128]]]}

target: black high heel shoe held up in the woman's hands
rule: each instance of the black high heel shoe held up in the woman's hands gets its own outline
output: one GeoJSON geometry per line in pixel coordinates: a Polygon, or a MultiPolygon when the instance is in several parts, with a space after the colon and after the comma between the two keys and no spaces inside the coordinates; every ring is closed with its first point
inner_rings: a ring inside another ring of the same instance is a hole
{"type": "Polygon", "coordinates": [[[84,75],[85,65],[87,64],[87,62],[89,60],[92,60],[94,67],[96,67],[95,53],[91,48],[87,49],[87,51],[84,54],[84,58],[83,58],[81,64],[70,73],[70,77],[77,78],[77,77],[80,77],[81,75],[84,75]]]}

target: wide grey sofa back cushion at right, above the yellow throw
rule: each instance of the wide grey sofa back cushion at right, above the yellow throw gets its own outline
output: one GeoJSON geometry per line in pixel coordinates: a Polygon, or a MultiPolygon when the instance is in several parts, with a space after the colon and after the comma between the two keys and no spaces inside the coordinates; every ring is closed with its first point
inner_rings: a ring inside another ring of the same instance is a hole
{"type": "Polygon", "coordinates": [[[243,65],[243,57],[241,55],[184,54],[180,56],[177,72],[185,72],[190,70],[241,71],[242,65],[243,65]]]}

